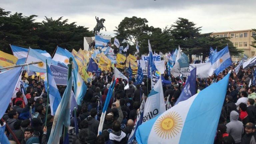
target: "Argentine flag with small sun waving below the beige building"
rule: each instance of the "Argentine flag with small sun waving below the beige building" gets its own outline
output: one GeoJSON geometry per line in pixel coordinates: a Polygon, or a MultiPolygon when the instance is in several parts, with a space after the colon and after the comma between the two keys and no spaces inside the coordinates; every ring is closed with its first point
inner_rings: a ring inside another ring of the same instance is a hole
{"type": "Polygon", "coordinates": [[[212,55],[210,62],[212,64],[212,67],[211,67],[209,73],[214,71],[214,73],[216,75],[218,75],[220,72],[222,72],[228,66],[232,65],[232,60],[231,60],[231,57],[229,54],[228,46],[226,46],[221,51],[212,55]]]}

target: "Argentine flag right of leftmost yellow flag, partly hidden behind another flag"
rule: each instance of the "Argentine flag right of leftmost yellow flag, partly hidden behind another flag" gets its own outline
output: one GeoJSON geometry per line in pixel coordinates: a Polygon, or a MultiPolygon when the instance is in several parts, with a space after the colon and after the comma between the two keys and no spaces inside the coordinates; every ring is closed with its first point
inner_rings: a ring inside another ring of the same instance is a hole
{"type": "MultiPolygon", "coordinates": [[[[11,46],[13,55],[18,58],[18,61],[16,62],[16,64],[17,65],[24,64],[25,61],[26,61],[26,58],[28,56],[28,49],[17,47],[17,46],[14,46],[14,45],[10,45],[10,46],[11,46]]],[[[49,53],[47,53],[46,51],[36,50],[36,49],[34,49],[34,50],[36,52],[42,54],[43,56],[46,56],[47,58],[51,58],[51,55],[49,53]]]]}

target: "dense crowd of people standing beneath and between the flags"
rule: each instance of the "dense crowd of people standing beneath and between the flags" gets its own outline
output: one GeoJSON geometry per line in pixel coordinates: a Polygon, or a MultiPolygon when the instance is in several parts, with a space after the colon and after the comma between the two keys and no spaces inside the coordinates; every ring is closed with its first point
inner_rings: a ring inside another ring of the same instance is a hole
{"type": "MultiPolygon", "coordinates": [[[[221,80],[229,70],[229,67],[219,75],[212,75],[207,78],[196,78],[197,92],[200,92],[214,82],[221,80]]],[[[238,73],[231,73],[226,98],[223,104],[216,131],[215,144],[254,144],[256,143],[256,93],[253,79],[255,67],[248,69],[240,68],[238,73]],[[250,84],[250,85],[249,85],[250,84]]],[[[47,109],[47,93],[44,81],[40,76],[25,77],[23,72],[22,80],[28,84],[25,91],[25,98],[22,92],[16,93],[12,104],[6,109],[3,120],[7,124],[6,135],[15,143],[21,144],[46,144],[53,126],[54,116],[47,109]],[[25,104],[25,100],[27,104],[25,104]],[[30,107],[32,107],[32,118],[30,119],[30,107]]],[[[128,74],[124,71],[125,76],[128,74]]],[[[151,91],[150,80],[145,77],[141,84],[136,84],[134,75],[128,81],[129,89],[124,90],[126,80],[116,80],[113,96],[109,102],[103,124],[102,134],[98,135],[99,121],[102,108],[105,104],[110,82],[113,73],[93,73],[91,83],[87,84],[87,92],[84,95],[81,106],[77,111],[70,114],[71,123],[68,127],[69,144],[127,144],[129,136],[136,123],[142,99],[147,99],[151,91]],[[106,82],[108,81],[108,82],[106,82]],[[142,96],[144,95],[144,96],[142,96]],[[75,128],[75,115],[79,132],[75,128]]],[[[179,98],[182,88],[185,85],[186,77],[180,79],[163,74],[171,84],[163,85],[165,102],[169,101],[171,106],[179,98]],[[169,97],[169,99],[168,99],[169,97]]],[[[57,85],[61,96],[66,86],[57,85]]],[[[210,100],[210,99],[209,99],[210,100]]],[[[50,111],[50,106],[48,107],[50,111]]],[[[210,123],[210,122],[209,122],[210,123]]],[[[2,121],[1,121],[2,124],[2,121]]],[[[60,138],[63,143],[63,136],[60,138]]]]}

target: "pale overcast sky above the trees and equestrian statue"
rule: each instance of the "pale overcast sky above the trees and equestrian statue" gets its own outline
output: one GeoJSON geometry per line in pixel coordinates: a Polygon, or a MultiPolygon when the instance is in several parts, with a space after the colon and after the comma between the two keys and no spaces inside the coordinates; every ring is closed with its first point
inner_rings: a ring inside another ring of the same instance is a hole
{"type": "Polygon", "coordinates": [[[146,18],[149,26],[164,28],[178,17],[187,18],[202,26],[202,33],[247,30],[256,28],[256,0],[1,0],[0,7],[25,16],[38,15],[57,19],[63,16],[69,22],[89,27],[96,25],[95,16],[106,19],[107,32],[113,30],[124,17],[146,18]]]}

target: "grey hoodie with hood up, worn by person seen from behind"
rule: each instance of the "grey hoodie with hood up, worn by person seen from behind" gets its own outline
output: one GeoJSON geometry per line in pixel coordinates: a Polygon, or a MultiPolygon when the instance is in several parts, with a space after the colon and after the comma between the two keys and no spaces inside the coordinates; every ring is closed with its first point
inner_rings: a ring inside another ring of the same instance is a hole
{"type": "Polygon", "coordinates": [[[230,122],[227,126],[227,133],[229,133],[236,143],[241,142],[241,136],[244,132],[243,123],[238,121],[239,114],[236,111],[230,112],[230,122]]]}

